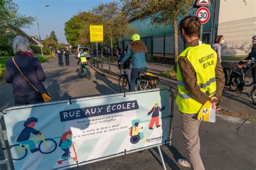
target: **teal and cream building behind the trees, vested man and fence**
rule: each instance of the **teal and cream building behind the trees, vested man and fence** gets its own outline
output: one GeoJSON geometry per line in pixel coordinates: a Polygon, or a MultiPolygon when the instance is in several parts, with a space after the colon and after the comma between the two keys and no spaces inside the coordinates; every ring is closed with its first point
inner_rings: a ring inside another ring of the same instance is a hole
{"type": "MultiPolygon", "coordinates": [[[[212,44],[218,34],[223,34],[225,39],[224,44],[222,44],[224,56],[246,55],[250,51],[251,37],[256,30],[255,2],[255,0],[211,0],[211,6],[207,6],[210,11],[210,20],[203,24],[203,42],[212,44]]],[[[194,1],[195,3],[196,1],[194,1]]],[[[196,11],[197,6],[191,6],[187,15],[195,16],[196,11]]],[[[183,17],[180,16],[179,20],[183,17]]],[[[147,46],[147,57],[150,56],[154,61],[159,60],[159,58],[166,58],[160,60],[165,63],[171,62],[170,59],[173,59],[174,54],[172,25],[156,28],[150,25],[150,19],[132,19],[130,26],[137,28],[141,40],[147,46]]],[[[178,51],[180,53],[184,50],[185,44],[180,35],[178,37],[178,51]]],[[[129,38],[122,37],[119,46],[124,50],[129,43],[129,38]]]]}

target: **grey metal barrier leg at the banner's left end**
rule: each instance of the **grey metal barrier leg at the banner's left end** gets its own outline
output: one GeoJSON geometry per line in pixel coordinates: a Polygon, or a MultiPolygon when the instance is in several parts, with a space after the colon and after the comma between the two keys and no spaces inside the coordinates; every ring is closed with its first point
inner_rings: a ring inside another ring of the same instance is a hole
{"type": "Polygon", "coordinates": [[[3,149],[3,153],[4,153],[4,160],[0,161],[0,165],[1,164],[6,164],[6,167],[8,170],[11,170],[11,161],[12,159],[9,158],[9,154],[8,154],[8,150],[6,149],[6,143],[5,143],[5,139],[4,139],[4,133],[3,133],[3,129],[2,129],[2,117],[3,115],[0,113],[0,138],[1,138],[1,145],[3,149]]]}

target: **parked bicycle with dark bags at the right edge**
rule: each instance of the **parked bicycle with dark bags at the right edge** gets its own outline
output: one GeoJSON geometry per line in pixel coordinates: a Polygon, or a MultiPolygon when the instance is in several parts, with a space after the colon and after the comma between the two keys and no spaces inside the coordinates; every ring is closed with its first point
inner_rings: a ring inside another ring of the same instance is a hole
{"type": "MultiPolygon", "coordinates": [[[[248,62],[254,63],[255,60],[248,60],[248,62]]],[[[241,93],[246,87],[250,87],[254,84],[254,77],[251,74],[253,67],[248,67],[246,65],[237,65],[237,69],[224,68],[225,73],[225,86],[229,86],[230,91],[235,91],[236,93],[241,93]]],[[[255,75],[254,75],[255,76],[255,75]]],[[[255,104],[255,84],[251,90],[252,102],[255,104]]]]}

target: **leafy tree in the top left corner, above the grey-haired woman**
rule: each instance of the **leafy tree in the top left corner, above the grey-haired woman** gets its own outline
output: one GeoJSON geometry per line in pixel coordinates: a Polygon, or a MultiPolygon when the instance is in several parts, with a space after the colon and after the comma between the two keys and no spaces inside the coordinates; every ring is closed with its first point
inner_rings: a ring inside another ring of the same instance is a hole
{"type": "Polygon", "coordinates": [[[18,5],[12,0],[1,1],[0,6],[0,49],[6,52],[14,37],[23,33],[22,28],[30,27],[35,18],[18,13],[18,5]]]}

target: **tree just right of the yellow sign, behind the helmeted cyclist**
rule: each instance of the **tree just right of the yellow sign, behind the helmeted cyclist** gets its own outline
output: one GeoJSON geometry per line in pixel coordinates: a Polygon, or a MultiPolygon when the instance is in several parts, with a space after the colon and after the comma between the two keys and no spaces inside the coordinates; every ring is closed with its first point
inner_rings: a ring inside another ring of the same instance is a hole
{"type": "MultiPolygon", "coordinates": [[[[130,27],[128,18],[117,2],[94,6],[91,13],[102,18],[104,39],[110,41],[111,50],[113,49],[113,41],[136,31],[130,27]]],[[[113,52],[111,52],[111,55],[113,56],[113,52]]]]}

